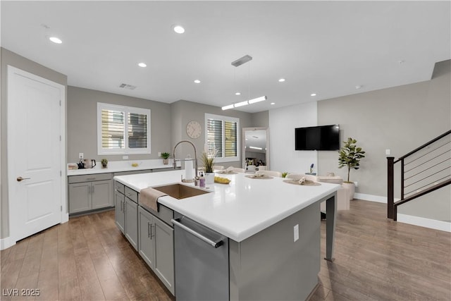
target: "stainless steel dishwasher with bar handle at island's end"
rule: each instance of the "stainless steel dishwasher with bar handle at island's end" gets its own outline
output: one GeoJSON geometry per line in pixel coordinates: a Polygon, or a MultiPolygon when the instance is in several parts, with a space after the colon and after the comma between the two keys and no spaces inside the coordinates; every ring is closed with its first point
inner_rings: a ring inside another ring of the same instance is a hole
{"type": "Polygon", "coordinates": [[[175,298],[229,300],[228,238],[174,212],[175,298]]]}

